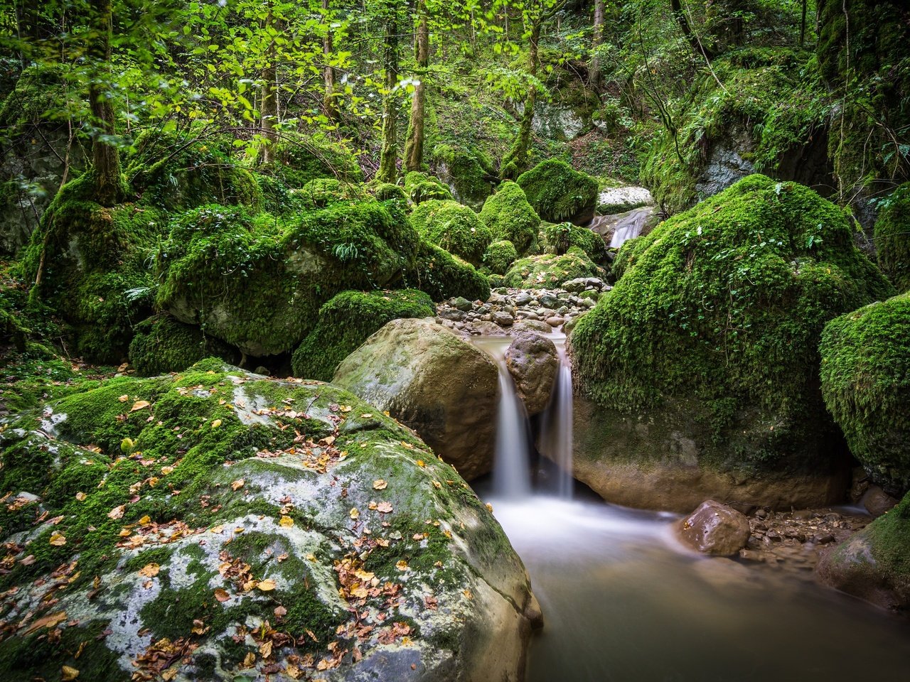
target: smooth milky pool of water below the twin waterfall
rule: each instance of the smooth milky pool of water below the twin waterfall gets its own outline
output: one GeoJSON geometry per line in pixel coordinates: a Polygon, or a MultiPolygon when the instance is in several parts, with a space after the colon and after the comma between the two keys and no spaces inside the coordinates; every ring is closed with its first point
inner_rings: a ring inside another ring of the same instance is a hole
{"type": "Polygon", "coordinates": [[[690,553],[675,515],[480,494],[543,608],[529,682],[910,680],[910,621],[810,575],[690,553]]]}

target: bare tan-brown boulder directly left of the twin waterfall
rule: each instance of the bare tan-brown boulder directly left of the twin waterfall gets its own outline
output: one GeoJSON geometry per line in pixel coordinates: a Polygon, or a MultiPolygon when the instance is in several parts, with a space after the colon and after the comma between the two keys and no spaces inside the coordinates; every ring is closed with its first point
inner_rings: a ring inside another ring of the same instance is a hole
{"type": "Polygon", "coordinates": [[[332,383],[420,434],[461,476],[492,469],[499,374],[490,357],[431,320],[394,320],[332,383]]]}

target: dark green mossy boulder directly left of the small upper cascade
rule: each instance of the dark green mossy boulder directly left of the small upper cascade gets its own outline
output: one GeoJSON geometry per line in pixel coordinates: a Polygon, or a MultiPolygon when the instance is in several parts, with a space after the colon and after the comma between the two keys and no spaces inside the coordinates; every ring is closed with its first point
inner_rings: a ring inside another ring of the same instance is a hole
{"type": "Polygon", "coordinates": [[[559,159],[535,165],[516,181],[528,202],[543,220],[561,223],[568,220],[582,225],[594,216],[597,181],[559,159]]]}

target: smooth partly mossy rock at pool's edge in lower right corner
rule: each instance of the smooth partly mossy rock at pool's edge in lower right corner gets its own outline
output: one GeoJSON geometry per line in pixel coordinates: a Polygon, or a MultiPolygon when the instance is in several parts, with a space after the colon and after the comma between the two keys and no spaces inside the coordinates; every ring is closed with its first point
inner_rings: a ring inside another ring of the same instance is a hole
{"type": "Polygon", "coordinates": [[[884,516],[829,549],[815,573],[825,585],[879,607],[910,610],[910,493],[884,516]]]}

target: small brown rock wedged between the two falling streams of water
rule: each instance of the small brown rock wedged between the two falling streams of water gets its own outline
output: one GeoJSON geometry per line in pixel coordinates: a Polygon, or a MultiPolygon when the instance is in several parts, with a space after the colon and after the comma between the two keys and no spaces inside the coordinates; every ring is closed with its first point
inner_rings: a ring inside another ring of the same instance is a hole
{"type": "Polygon", "coordinates": [[[560,366],[553,342],[534,332],[519,333],[506,350],[506,366],[528,414],[543,412],[560,366]]]}

